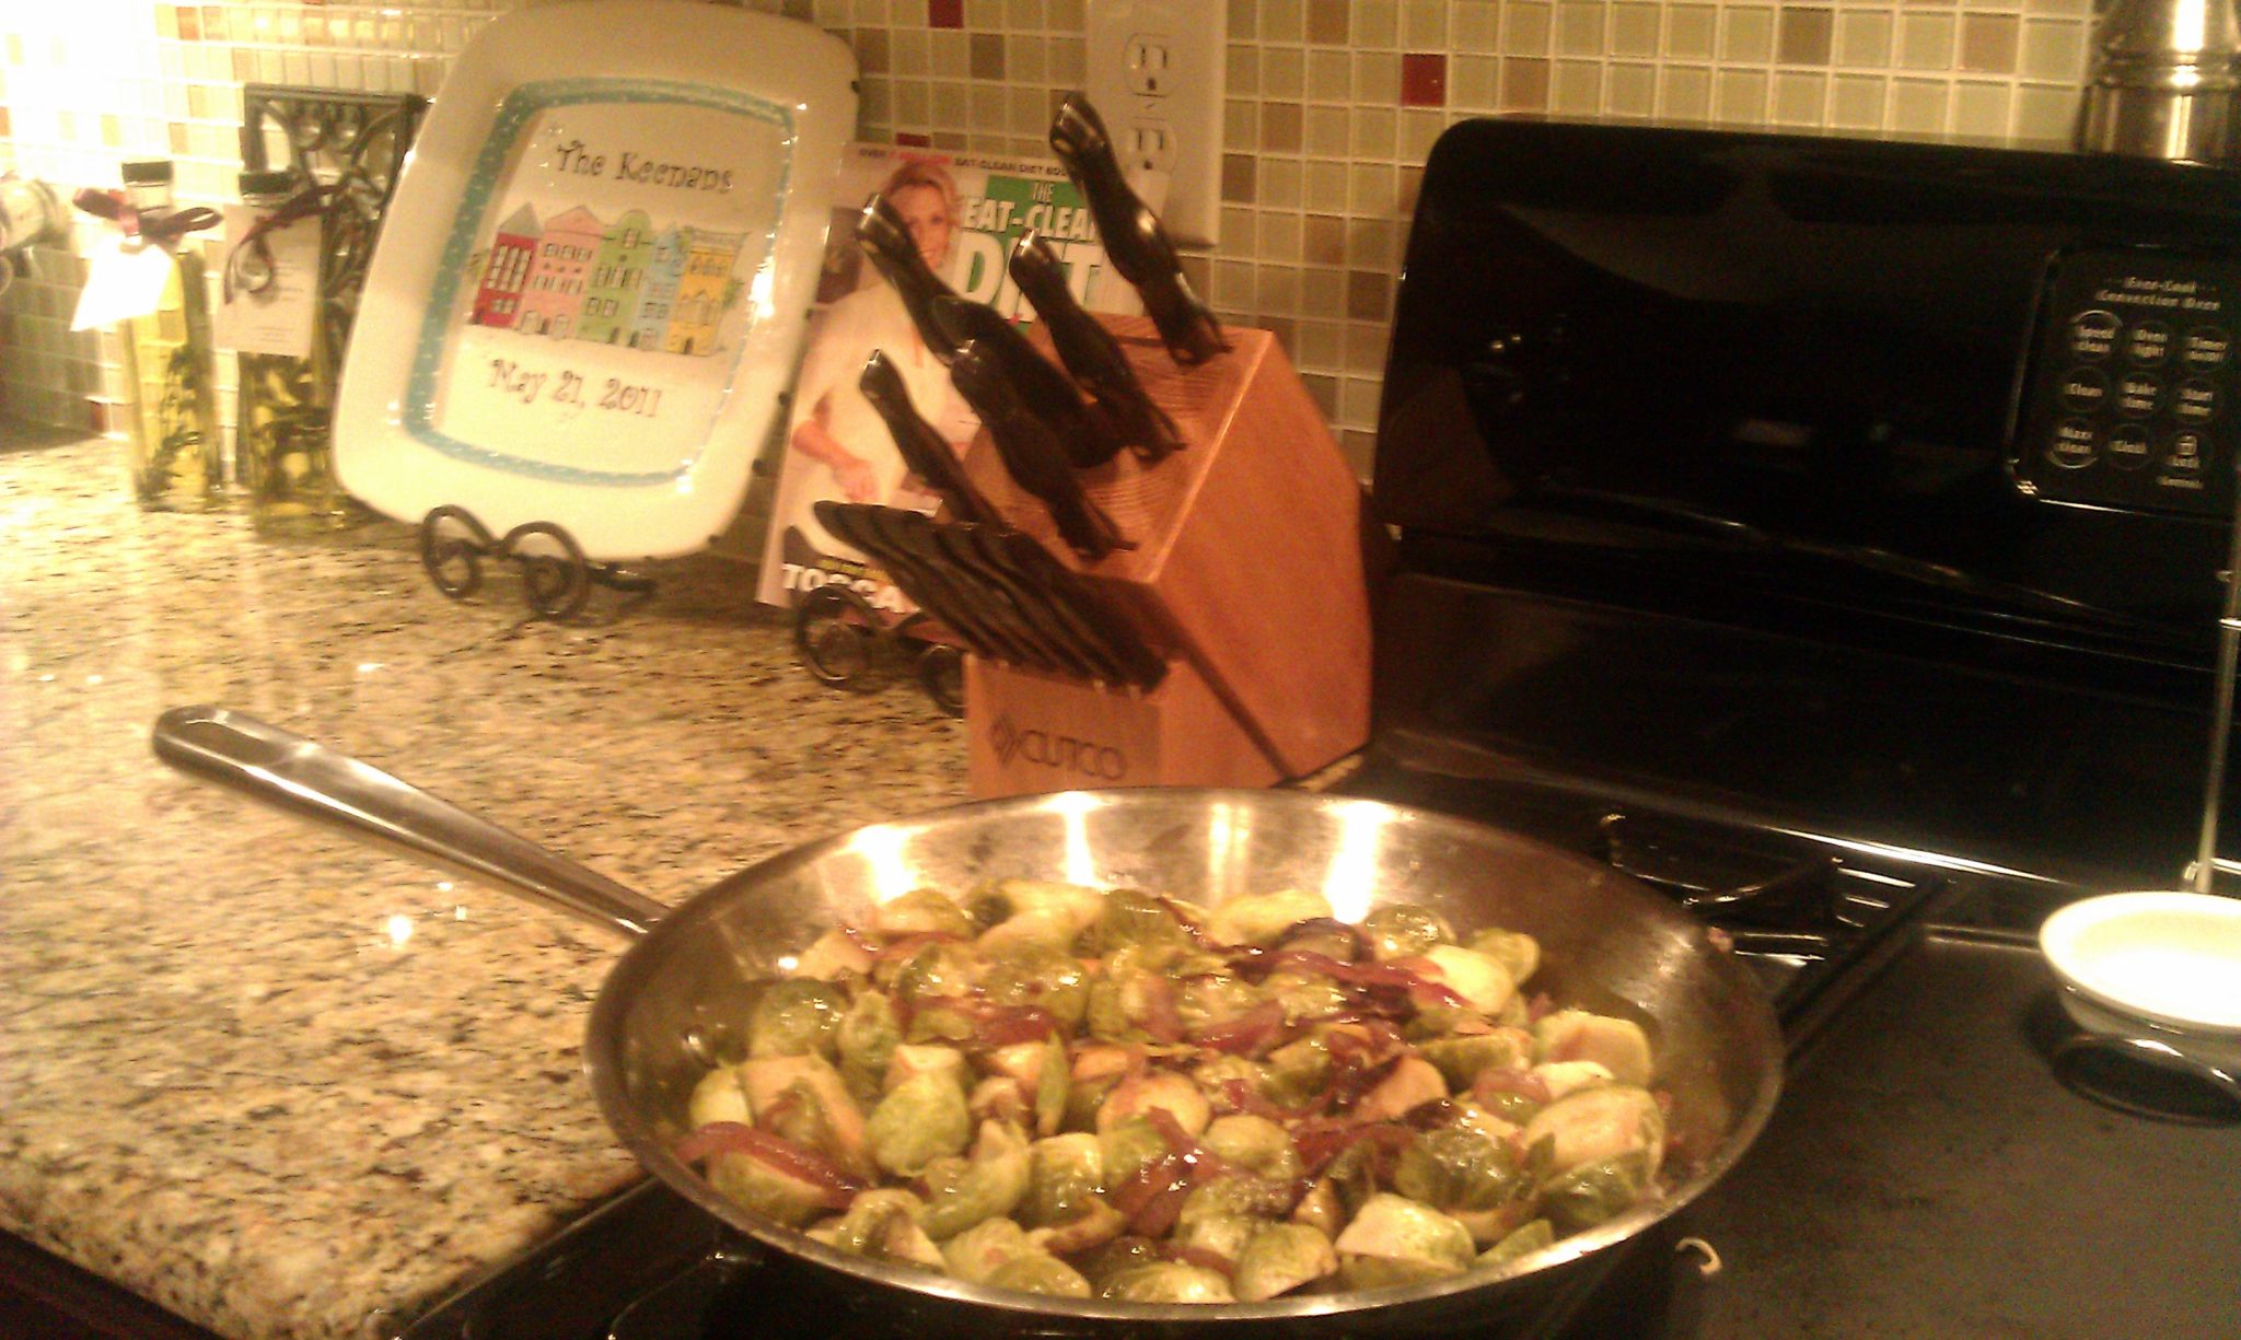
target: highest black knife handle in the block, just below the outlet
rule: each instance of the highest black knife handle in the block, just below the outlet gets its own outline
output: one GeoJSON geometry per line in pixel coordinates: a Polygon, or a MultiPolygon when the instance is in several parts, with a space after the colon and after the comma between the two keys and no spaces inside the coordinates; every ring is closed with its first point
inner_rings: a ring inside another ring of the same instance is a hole
{"type": "Polygon", "coordinates": [[[1067,94],[1067,101],[1058,105],[1058,117],[1051,121],[1051,150],[1067,166],[1067,177],[1073,177],[1073,184],[1089,199],[1089,215],[1098,222],[1107,260],[1127,282],[1136,285],[1143,309],[1152,316],[1152,325],[1159,327],[1159,338],[1165,341],[1174,361],[1194,365],[1226,350],[1221,323],[1190,291],[1168,229],[1120,177],[1120,159],[1114,157],[1105,121],[1082,94],[1067,94]]]}

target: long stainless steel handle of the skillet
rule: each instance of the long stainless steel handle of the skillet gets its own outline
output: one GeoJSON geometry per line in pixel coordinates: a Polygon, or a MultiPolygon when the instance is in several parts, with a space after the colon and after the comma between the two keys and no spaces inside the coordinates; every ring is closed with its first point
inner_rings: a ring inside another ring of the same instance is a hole
{"type": "Polygon", "coordinates": [[[433,860],[623,934],[645,934],[668,908],[399,782],[372,764],[217,708],[173,708],[155,719],[155,755],[278,809],[336,825],[354,838],[433,860]]]}

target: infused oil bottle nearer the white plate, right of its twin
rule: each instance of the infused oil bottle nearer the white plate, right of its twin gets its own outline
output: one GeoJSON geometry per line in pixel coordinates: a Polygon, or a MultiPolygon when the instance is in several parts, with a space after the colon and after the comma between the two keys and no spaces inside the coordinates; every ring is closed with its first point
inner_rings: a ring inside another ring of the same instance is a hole
{"type": "MultiPolygon", "coordinates": [[[[285,170],[242,173],[242,204],[273,211],[289,199],[296,179],[285,170]]],[[[307,215],[287,229],[316,229],[307,215]]],[[[271,276],[264,276],[267,282],[271,276]]],[[[300,276],[318,287],[318,273],[300,276]]],[[[318,296],[314,294],[316,303],[318,296]]],[[[314,320],[309,356],[240,354],[240,401],[235,403],[235,455],[249,509],[260,533],[307,536],[338,531],[365,518],[334,480],[332,367],[327,341],[314,320]]]]}

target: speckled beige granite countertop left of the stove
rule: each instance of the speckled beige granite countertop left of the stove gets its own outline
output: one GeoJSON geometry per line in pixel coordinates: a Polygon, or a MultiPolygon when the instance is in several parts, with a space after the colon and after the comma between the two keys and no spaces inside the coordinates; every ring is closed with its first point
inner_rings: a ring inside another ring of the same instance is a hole
{"type": "Polygon", "coordinates": [[[636,1176],[578,1064],[619,941],[177,775],[168,706],[341,746],[675,903],[964,798],[715,556],[634,609],[437,594],[408,527],[141,513],[0,428],[0,1230],[238,1338],[385,1336],[636,1176]]]}

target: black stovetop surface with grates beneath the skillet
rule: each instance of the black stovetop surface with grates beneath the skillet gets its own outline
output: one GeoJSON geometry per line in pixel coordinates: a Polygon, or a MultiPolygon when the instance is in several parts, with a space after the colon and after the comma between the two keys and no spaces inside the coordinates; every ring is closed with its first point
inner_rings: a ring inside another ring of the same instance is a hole
{"type": "MultiPolygon", "coordinates": [[[[1580,1271],[1504,1340],[2113,1333],[2080,1329],[2080,1315],[2091,1313],[2035,1313],[2024,1306],[2028,1297],[2010,1297],[2017,1288],[2003,1293],[1999,1282],[2033,1277],[2012,1262],[1979,1277],[1954,1253],[2006,1235],[2037,1244],[2033,1253],[2055,1253],[2059,1244],[2046,1239],[2077,1221],[2066,1210],[2073,1194],[2120,1199],[2111,1183],[2131,1176],[2122,1170],[2136,1163],[2111,1150],[2158,1161],[2158,1185],[2185,1183],[2176,1203],[2163,1203],[2189,1219],[2196,1210],[2210,1217],[2219,1181],[2241,1170],[2241,1129],[2116,1118],[2053,1078],[2053,984],[2008,903],[2015,890],[1703,813],[1656,813],[1484,778],[1457,784],[1376,760],[1336,789],[1461,811],[1607,860],[1714,921],[1777,1004],[1791,1080],[1759,1147],[1696,1206],[1580,1271]],[[2008,925],[1954,930],[1956,921],[2008,925]],[[2051,1201],[2019,1199],[2010,1183],[2051,1201]],[[1914,1235],[1918,1253],[1909,1255],[1914,1235]],[[1800,1253],[1802,1244],[1811,1250],[1800,1253]],[[1856,1250],[1876,1253],[1880,1264],[1856,1262],[1856,1250]],[[1712,1259],[1721,1271],[1703,1275],[1712,1259]],[[1938,1273],[1965,1275],[1983,1295],[1983,1306],[1963,1313],[2030,1318],[2037,1329],[1954,1329],[1941,1313],[1943,1295],[1909,1284],[1938,1273]],[[1813,1311],[1786,1311],[1793,1302],[1813,1311]],[[1882,1309],[1889,1327],[1865,1318],[1851,1331],[1835,1327],[1833,1318],[1856,1304],[1882,1309]],[[1808,1315],[1813,1327],[1793,1324],[1808,1315]]],[[[2230,1185],[2225,1194],[2216,1203],[2230,1208],[2230,1185]]],[[[2198,1257],[2212,1248],[2241,1259],[2241,1223],[2228,1223],[2223,1237],[2174,1237],[2142,1235],[2127,1250],[2174,1255],[2174,1282],[2201,1279],[2198,1257]]],[[[2053,1268],[2053,1257],[2030,1259],[2053,1268]]],[[[2241,1324],[2165,1322],[2167,1336],[2241,1333],[2241,1324]]],[[[901,1340],[901,1322],[876,1295],[834,1288],[820,1273],[645,1183],[446,1302],[406,1340],[771,1333],[901,1340]]]]}

